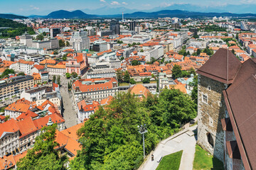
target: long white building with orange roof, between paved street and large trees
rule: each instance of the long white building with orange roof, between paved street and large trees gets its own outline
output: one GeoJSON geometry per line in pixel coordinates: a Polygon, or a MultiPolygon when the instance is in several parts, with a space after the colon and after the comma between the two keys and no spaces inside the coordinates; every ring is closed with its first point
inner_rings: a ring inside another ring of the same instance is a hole
{"type": "Polygon", "coordinates": [[[114,78],[80,79],[73,83],[73,96],[75,101],[90,97],[94,101],[101,101],[118,92],[117,80],[114,78]]]}

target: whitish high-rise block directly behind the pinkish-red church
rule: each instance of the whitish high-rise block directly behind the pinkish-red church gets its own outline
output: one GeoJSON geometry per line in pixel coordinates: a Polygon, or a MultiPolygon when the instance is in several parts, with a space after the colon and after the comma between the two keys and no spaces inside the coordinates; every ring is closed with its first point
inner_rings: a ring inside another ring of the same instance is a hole
{"type": "Polygon", "coordinates": [[[73,32],[70,41],[73,42],[73,47],[77,51],[90,50],[90,38],[87,37],[87,32],[84,30],[73,32]]]}

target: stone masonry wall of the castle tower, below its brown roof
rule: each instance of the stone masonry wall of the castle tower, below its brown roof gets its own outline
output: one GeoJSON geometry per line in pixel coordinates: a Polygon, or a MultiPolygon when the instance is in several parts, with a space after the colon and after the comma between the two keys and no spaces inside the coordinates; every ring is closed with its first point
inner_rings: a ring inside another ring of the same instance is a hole
{"type": "Polygon", "coordinates": [[[198,75],[198,145],[224,162],[224,132],[221,119],[225,117],[225,101],[222,91],[225,84],[198,75]],[[210,89],[209,89],[210,88],[210,89]],[[203,102],[203,94],[208,102],[203,102]],[[213,147],[207,134],[213,137],[213,147]]]}

